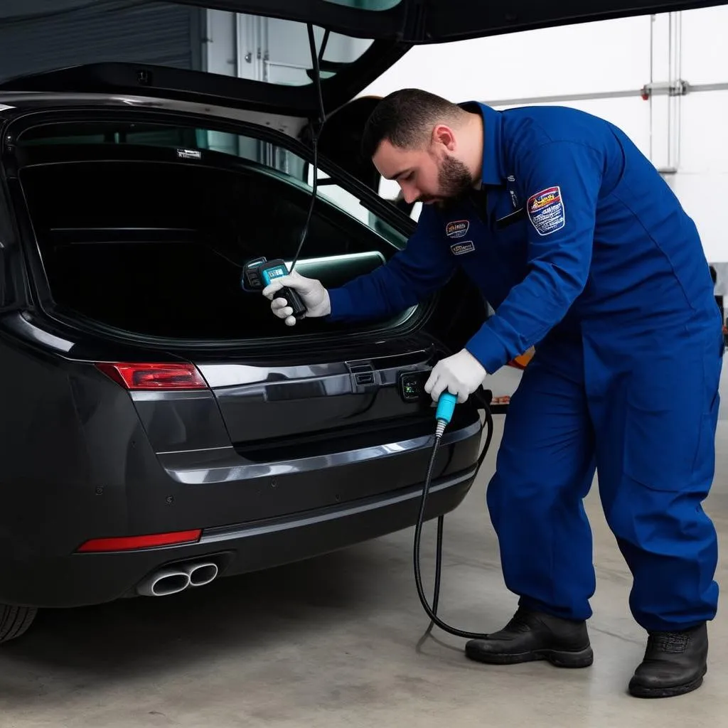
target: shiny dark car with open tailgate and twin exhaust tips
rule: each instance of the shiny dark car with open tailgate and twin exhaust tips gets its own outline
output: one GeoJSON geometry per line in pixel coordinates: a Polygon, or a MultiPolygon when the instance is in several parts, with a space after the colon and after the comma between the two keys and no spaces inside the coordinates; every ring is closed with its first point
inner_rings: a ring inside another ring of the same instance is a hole
{"type": "MultiPolygon", "coordinates": [[[[716,3],[187,4],[373,42],[324,55],[321,98],[136,63],[0,87],[0,641],[38,607],[170,595],[414,525],[435,424],[418,387],[483,323],[480,293],[458,277],[389,320],[290,329],[241,284],[247,261],[296,253],[322,101],[341,114],[418,42],[716,3]]],[[[297,264],[329,287],[414,227],[332,139],[360,127],[331,128],[297,264]]],[[[467,494],[481,430],[456,408],[427,518],[467,494]]]]}

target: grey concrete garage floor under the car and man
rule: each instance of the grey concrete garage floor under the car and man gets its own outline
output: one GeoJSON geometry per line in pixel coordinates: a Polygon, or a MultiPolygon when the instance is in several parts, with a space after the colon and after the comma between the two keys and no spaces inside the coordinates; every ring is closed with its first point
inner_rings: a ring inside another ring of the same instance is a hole
{"type": "MultiPolygon", "coordinates": [[[[483,494],[500,424],[480,482],[446,519],[440,614],[469,630],[500,628],[515,609],[483,494]]],[[[723,537],[724,587],[728,407],[718,438],[706,510],[723,537]]],[[[592,668],[478,665],[464,658],[462,641],[439,630],[419,645],[428,622],[406,531],[180,597],[42,613],[31,632],[0,649],[0,728],[725,725],[722,610],[711,624],[703,688],[659,701],[626,694],[645,635],[630,617],[630,578],[596,491],[588,508],[598,574],[592,668]]],[[[434,530],[428,526],[424,547],[428,575],[434,530]]]]}

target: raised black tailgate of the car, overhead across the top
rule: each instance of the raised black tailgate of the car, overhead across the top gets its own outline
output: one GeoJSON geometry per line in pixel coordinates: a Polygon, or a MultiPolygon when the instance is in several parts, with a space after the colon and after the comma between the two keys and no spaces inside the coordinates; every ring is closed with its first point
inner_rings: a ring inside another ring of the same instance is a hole
{"type": "MultiPolygon", "coordinates": [[[[199,8],[237,12],[268,19],[269,35],[293,33],[304,58],[298,68],[264,80],[162,65],[154,60],[153,36],[111,58],[62,63],[0,82],[0,92],[100,93],[178,99],[245,108],[263,114],[311,118],[318,114],[308,53],[307,23],[314,25],[316,48],[329,31],[320,70],[323,106],[330,113],[368,87],[413,45],[472,39],[551,25],[582,23],[629,15],[646,15],[726,4],[728,0],[138,0],[111,3],[114,12],[141,12],[146,7],[199,8]],[[274,24],[278,25],[274,25],[274,24]]],[[[92,13],[108,3],[88,0],[3,0],[0,31],[28,28],[53,15],[92,13]]],[[[151,16],[150,16],[151,17],[151,16]]],[[[149,28],[146,28],[149,31],[149,28]]],[[[209,31],[208,33],[209,34],[209,31]]],[[[145,36],[146,37],[146,36],[145,36]]],[[[202,36],[200,36],[202,42],[202,36]]],[[[300,54],[299,54],[300,55],[300,54]]],[[[239,60],[240,65],[240,60],[239,60]]],[[[272,64],[275,66],[275,63],[272,64]]],[[[245,63],[243,64],[245,66],[245,63]]],[[[457,69],[454,69],[454,73],[457,69]]]]}

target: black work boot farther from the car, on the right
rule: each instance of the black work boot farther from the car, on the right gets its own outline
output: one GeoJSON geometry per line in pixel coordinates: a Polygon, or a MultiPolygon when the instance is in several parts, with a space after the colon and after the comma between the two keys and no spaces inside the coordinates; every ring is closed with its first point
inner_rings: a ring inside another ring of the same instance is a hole
{"type": "Polygon", "coordinates": [[[708,627],[651,632],[642,664],[630,680],[635,697],[673,697],[692,692],[708,672],[708,627]]]}

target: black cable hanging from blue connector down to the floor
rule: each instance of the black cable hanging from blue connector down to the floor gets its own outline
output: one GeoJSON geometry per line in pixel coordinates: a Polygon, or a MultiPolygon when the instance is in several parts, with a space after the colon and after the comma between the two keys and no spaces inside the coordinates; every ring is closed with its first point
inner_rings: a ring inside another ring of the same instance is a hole
{"type": "MultiPolygon", "coordinates": [[[[480,403],[481,407],[485,411],[486,429],[488,431],[488,434],[486,435],[486,442],[483,445],[483,450],[480,452],[480,456],[478,456],[478,463],[475,466],[475,475],[473,475],[473,479],[475,479],[478,477],[480,467],[483,465],[486,455],[488,454],[488,449],[491,446],[494,424],[490,404],[486,401],[486,398],[483,397],[483,395],[480,395],[480,392],[475,392],[473,397],[478,400],[478,403],[480,403]]],[[[425,476],[424,486],[422,488],[422,499],[419,505],[417,524],[414,529],[414,579],[417,587],[417,593],[419,595],[419,601],[422,602],[424,611],[427,612],[427,616],[430,617],[430,626],[427,628],[427,632],[425,634],[427,635],[427,633],[430,633],[432,627],[437,625],[441,630],[456,637],[462,637],[464,639],[486,639],[488,637],[487,633],[465,632],[464,630],[451,627],[451,625],[448,625],[447,622],[443,622],[443,620],[440,620],[438,617],[437,612],[440,602],[440,578],[442,575],[443,562],[443,531],[445,527],[445,517],[443,515],[438,517],[438,541],[437,546],[435,547],[435,589],[432,598],[432,607],[427,604],[427,597],[425,596],[424,589],[422,587],[422,571],[419,563],[420,542],[422,540],[422,526],[424,524],[424,511],[427,505],[427,496],[430,494],[430,486],[432,484],[432,470],[435,467],[435,458],[437,457],[438,450],[440,448],[440,440],[441,436],[435,435],[435,442],[432,445],[432,453],[430,454],[430,463],[427,466],[427,475],[425,476]]]]}

